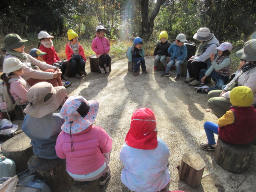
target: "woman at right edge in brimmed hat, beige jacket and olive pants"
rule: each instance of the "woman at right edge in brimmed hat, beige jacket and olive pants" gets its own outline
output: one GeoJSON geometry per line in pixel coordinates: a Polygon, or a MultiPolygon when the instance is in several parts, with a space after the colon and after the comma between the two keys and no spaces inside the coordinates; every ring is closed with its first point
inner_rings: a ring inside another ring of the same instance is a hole
{"type": "Polygon", "coordinates": [[[256,39],[247,41],[244,48],[236,52],[236,56],[246,60],[241,72],[223,90],[213,90],[208,93],[208,106],[218,118],[222,117],[231,106],[228,89],[234,86],[235,81],[238,82],[238,86],[251,88],[254,94],[252,104],[256,103],[256,39]]]}

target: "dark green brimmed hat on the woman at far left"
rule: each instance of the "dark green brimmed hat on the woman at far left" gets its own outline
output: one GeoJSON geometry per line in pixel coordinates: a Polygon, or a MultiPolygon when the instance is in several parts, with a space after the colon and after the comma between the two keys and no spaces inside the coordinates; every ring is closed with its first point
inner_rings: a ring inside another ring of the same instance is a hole
{"type": "Polygon", "coordinates": [[[1,47],[1,49],[6,51],[20,48],[26,41],[28,40],[21,39],[20,36],[18,36],[17,34],[8,34],[4,38],[4,45],[1,47]]]}

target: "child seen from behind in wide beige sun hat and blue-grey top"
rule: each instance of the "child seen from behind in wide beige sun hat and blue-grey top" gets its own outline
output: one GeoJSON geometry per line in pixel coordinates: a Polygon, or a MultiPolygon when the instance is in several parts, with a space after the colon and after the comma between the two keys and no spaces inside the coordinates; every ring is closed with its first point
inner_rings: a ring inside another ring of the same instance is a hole
{"type": "Polygon", "coordinates": [[[56,159],[55,144],[64,118],[54,111],[65,99],[66,89],[40,82],[28,90],[27,96],[29,104],[24,110],[26,116],[22,130],[31,139],[34,154],[41,158],[56,159]]]}

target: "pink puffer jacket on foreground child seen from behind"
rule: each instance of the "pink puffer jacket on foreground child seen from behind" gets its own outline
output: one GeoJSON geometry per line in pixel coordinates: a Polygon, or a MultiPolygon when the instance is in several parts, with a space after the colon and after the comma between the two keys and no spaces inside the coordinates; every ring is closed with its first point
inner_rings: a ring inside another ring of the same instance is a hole
{"type": "Polygon", "coordinates": [[[110,152],[112,138],[100,126],[89,126],[72,134],[74,151],[71,152],[70,134],[60,132],[55,149],[61,159],[66,159],[66,169],[72,174],[88,174],[98,170],[105,162],[103,153],[110,152]]]}

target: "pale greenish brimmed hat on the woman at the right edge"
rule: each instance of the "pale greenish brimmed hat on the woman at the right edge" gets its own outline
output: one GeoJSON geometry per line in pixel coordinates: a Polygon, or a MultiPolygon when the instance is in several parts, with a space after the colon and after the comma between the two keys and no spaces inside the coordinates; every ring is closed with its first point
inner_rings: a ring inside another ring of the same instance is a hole
{"type": "Polygon", "coordinates": [[[247,41],[244,48],[236,52],[236,56],[246,61],[256,61],[256,39],[247,41]]]}

